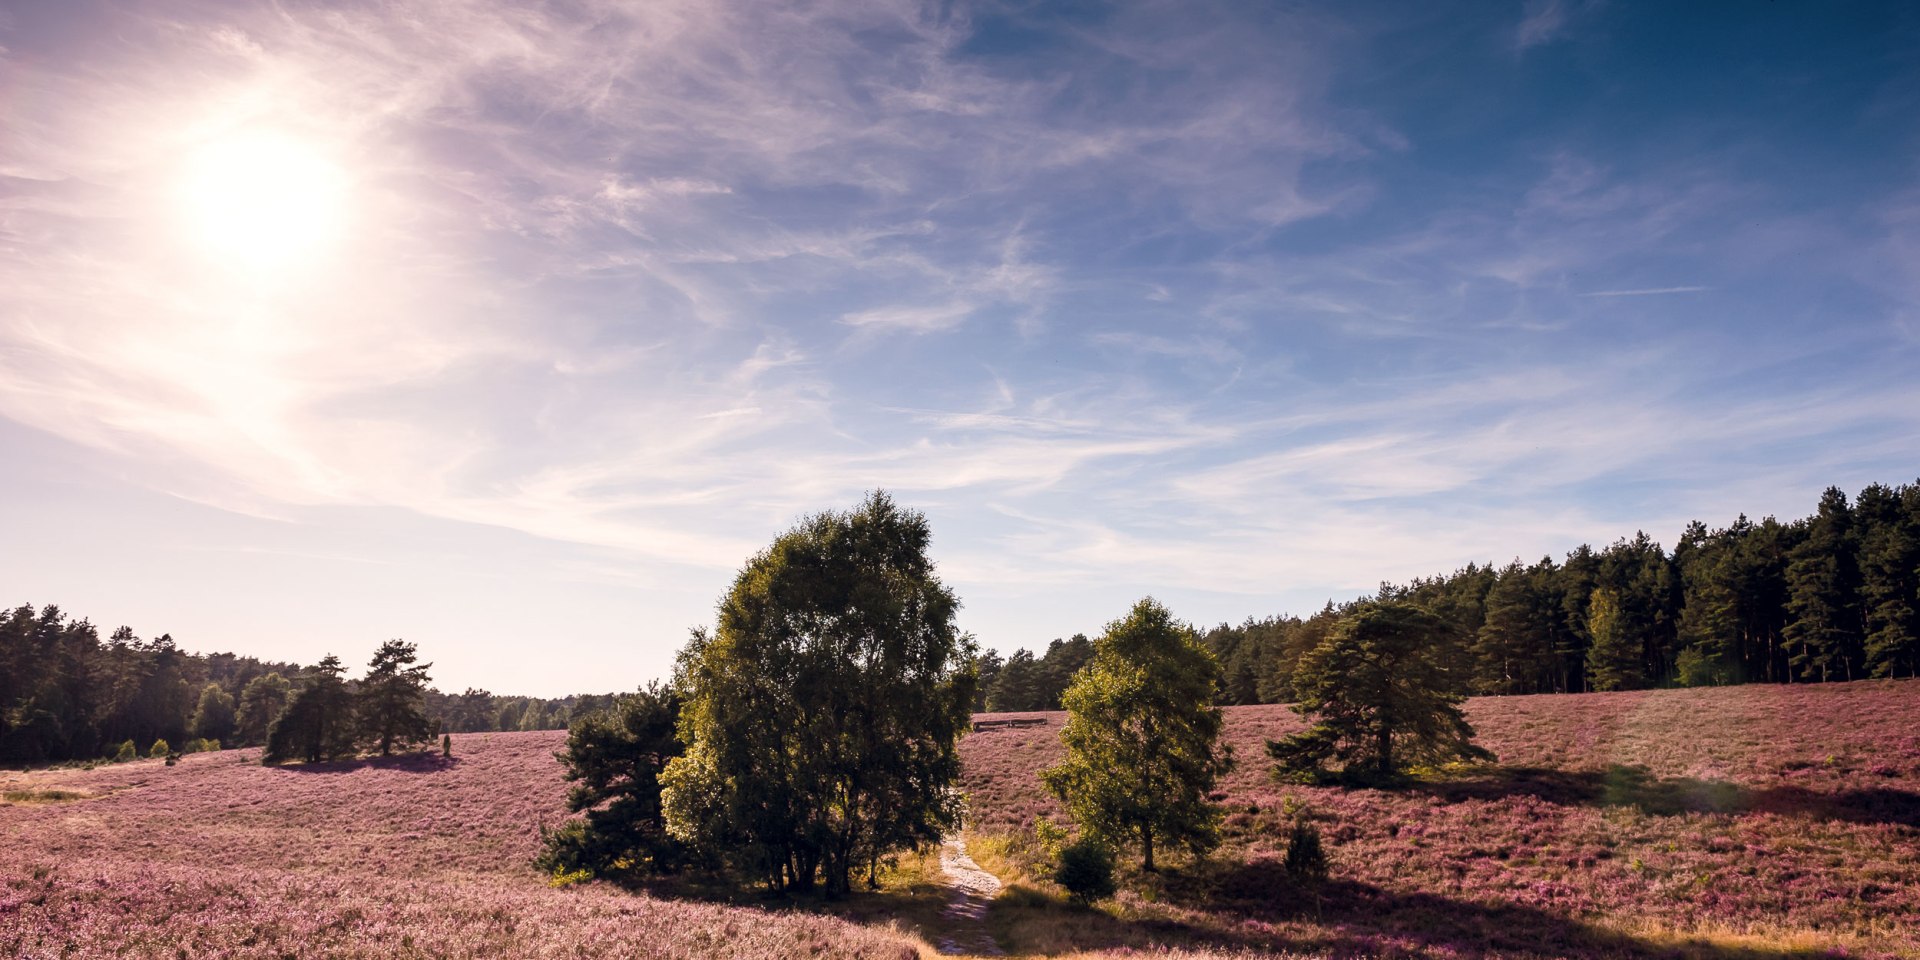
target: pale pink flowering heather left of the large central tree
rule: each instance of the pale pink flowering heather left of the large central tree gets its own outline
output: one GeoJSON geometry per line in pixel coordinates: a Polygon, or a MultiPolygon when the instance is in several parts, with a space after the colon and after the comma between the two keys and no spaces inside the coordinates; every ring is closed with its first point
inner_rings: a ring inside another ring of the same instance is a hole
{"type": "Polygon", "coordinates": [[[564,814],[563,735],[0,776],[15,797],[88,797],[0,806],[0,956],[918,956],[831,918],[549,887],[528,860],[564,814]]]}

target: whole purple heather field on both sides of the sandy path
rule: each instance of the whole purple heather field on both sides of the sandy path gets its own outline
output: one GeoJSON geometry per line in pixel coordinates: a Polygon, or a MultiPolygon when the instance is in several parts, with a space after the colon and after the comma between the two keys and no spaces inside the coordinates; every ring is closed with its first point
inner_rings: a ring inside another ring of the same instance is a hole
{"type": "MultiPolygon", "coordinates": [[[[979,849],[1058,818],[1035,778],[1060,755],[1048,716],[964,741],[979,849]]],[[[1469,716],[1498,766],[1346,791],[1271,781],[1261,743],[1300,720],[1227,708],[1223,849],[1129,877],[1096,914],[1044,914],[1075,945],[1025,952],[1920,956],[1920,682],[1501,697],[1469,716]],[[1279,868],[1294,818],[1327,837],[1332,879],[1311,895],[1279,868]]],[[[931,952],[908,925],[549,887],[530,858],[563,816],[559,745],[470,733],[451,760],[225,751],[0,774],[0,956],[931,952]]],[[[1018,860],[985,864],[1008,897],[1044,895],[1018,860]]]]}

